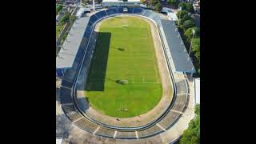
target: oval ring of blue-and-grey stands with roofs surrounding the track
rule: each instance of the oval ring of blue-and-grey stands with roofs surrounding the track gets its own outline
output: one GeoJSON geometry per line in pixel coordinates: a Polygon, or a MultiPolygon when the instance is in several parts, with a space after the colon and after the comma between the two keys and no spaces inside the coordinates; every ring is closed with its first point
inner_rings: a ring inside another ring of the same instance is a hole
{"type": "Polygon", "coordinates": [[[74,26],[70,30],[66,42],[64,42],[63,49],[56,59],[56,74],[58,77],[62,77],[60,90],[62,109],[70,121],[74,123],[74,126],[102,137],[136,139],[149,138],[160,134],[174,125],[186,107],[189,93],[186,78],[177,79],[177,77],[173,76],[173,73],[193,74],[194,66],[190,60],[187,60],[188,58],[186,48],[178,37],[174,22],[163,20],[159,14],[151,10],[128,7],[127,11],[124,12],[122,7],[118,7],[102,10],[90,17],[79,18],[74,22],[74,26]],[[150,122],[145,126],[118,127],[97,122],[84,114],[82,110],[79,110],[76,102],[76,90],[85,88],[91,58],[94,54],[96,41],[94,39],[95,33],[92,33],[94,26],[103,18],[117,14],[133,14],[148,18],[158,26],[170,76],[174,84],[173,101],[166,108],[164,114],[161,114],[161,117],[156,118],[154,122],[150,122]],[[168,26],[171,28],[167,30],[168,26]]]}

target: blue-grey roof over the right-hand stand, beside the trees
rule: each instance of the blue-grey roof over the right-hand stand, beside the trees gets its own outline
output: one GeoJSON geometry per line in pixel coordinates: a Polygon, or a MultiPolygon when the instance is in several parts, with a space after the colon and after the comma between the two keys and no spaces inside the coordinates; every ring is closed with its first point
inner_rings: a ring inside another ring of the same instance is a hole
{"type": "Polygon", "coordinates": [[[178,30],[176,30],[174,21],[161,19],[161,24],[170,50],[172,62],[174,62],[175,71],[194,73],[193,63],[191,62],[178,30]]]}

